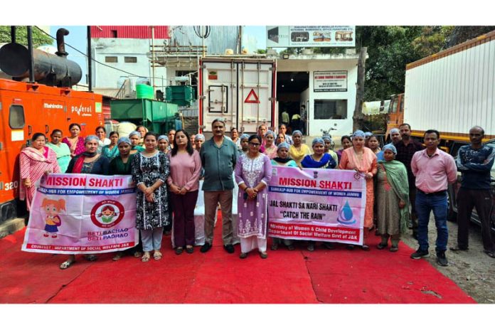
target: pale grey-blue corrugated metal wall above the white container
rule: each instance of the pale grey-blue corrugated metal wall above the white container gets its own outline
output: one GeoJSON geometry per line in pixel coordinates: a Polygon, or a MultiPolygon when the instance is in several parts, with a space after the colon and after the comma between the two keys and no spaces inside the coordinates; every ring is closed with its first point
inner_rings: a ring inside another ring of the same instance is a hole
{"type": "MultiPolygon", "coordinates": [[[[237,53],[239,26],[210,26],[210,36],[205,39],[208,54],[220,55],[230,48],[237,53]]],[[[203,41],[194,33],[193,26],[170,26],[170,43],[179,46],[202,46],[203,41]]]]}

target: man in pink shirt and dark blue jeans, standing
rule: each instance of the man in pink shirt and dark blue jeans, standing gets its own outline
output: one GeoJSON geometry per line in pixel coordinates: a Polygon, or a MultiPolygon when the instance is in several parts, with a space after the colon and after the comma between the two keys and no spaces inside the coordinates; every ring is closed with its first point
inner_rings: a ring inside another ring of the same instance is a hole
{"type": "Polygon", "coordinates": [[[429,129],[424,137],[426,149],[417,151],[411,160],[411,170],[416,177],[416,213],[418,220],[417,241],[420,248],[411,255],[420,259],[428,255],[428,223],[430,213],[435,215],[437,226],[437,262],[449,263],[445,257],[449,232],[447,230],[447,186],[457,181],[457,167],[452,156],[438,149],[440,132],[429,129]]]}

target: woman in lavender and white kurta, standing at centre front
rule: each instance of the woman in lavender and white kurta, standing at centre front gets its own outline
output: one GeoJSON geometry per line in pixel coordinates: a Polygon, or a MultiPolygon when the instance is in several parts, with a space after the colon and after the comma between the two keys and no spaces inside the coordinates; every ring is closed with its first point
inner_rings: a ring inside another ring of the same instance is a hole
{"type": "Polygon", "coordinates": [[[241,154],[235,164],[238,194],[238,236],[240,258],[248,257],[253,249],[260,257],[267,255],[267,202],[268,183],[272,179],[272,164],[267,155],[260,153],[261,141],[257,135],[249,140],[249,151],[241,154]]]}

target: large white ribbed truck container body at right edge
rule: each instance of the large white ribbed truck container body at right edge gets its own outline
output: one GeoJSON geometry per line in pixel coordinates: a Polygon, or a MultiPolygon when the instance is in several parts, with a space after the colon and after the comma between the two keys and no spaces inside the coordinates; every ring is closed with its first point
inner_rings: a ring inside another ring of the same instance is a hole
{"type": "Polygon", "coordinates": [[[403,122],[419,138],[437,129],[453,155],[475,125],[494,139],[495,31],[408,64],[403,122]]]}

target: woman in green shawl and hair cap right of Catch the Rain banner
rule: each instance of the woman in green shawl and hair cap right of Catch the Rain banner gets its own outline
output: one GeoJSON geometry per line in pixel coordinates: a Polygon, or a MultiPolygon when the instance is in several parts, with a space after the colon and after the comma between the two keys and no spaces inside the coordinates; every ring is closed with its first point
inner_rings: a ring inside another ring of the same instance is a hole
{"type": "Polygon", "coordinates": [[[378,161],[376,187],[378,233],[381,242],[378,250],[388,246],[390,252],[399,250],[400,234],[408,229],[409,184],[408,172],[400,161],[395,160],[397,149],[393,144],[383,146],[383,161],[378,161]]]}

